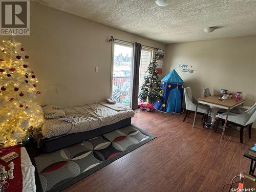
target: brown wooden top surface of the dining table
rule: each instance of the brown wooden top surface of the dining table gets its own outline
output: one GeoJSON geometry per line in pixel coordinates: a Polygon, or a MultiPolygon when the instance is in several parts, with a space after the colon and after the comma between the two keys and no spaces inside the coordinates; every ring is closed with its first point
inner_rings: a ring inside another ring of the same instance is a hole
{"type": "Polygon", "coordinates": [[[198,98],[198,101],[203,101],[203,102],[207,102],[207,103],[225,106],[227,108],[232,108],[232,106],[238,105],[239,103],[242,103],[245,100],[240,99],[240,100],[236,101],[236,100],[234,100],[234,98],[219,100],[219,95],[213,95],[213,96],[209,96],[209,97],[198,98]]]}

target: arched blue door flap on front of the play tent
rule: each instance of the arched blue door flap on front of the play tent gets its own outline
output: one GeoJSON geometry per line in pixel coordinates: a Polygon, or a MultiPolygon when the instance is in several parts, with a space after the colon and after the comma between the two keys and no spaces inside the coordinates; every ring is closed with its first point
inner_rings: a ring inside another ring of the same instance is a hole
{"type": "Polygon", "coordinates": [[[179,89],[172,89],[169,93],[167,100],[167,113],[181,113],[181,94],[179,89]]]}

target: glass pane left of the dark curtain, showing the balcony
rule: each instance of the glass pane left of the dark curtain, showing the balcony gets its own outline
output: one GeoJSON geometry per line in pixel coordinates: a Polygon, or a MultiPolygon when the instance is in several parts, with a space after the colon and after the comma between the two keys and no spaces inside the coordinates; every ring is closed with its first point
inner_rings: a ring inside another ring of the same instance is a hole
{"type": "Polygon", "coordinates": [[[114,42],[112,63],[112,98],[130,105],[133,45],[114,42]]]}

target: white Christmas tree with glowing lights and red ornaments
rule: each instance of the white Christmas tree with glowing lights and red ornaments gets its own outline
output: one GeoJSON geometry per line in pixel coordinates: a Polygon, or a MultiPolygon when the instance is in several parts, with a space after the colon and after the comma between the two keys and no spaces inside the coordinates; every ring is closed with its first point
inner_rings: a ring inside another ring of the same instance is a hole
{"type": "Polygon", "coordinates": [[[34,101],[40,94],[38,80],[29,68],[25,49],[13,36],[3,40],[0,49],[0,145],[6,147],[23,141],[44,118],[34,101]]]}

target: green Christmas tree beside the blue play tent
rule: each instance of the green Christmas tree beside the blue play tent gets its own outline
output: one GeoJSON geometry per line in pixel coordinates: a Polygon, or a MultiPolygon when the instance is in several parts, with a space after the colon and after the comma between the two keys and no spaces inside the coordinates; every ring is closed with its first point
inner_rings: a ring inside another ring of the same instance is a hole
{"type": "Polygon", "coordinates": [[[144,82],[141,87],[140,99],[142,101],[147,101],[154,103],[156,100],[160,99],[160,89],[161,89],[161,80],[157,75],[157,60],[154,58],[150,65],[147,67],[147,76],[144,77],[144,82]]]}

